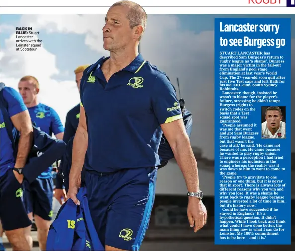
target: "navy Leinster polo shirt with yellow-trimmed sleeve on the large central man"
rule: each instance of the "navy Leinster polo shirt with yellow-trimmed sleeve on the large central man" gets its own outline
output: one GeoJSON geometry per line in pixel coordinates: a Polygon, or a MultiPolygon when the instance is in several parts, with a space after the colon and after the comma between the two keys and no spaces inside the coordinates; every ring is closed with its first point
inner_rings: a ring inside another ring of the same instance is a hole
{"type": "Polygon", "coordinates": [[[156,167],[160,125],[182,119],[175,90],[141,54],[107,83],[101,70],[107,59],[88,67],[80,84],[88,129],[85,169],[105,173],[156,167]]]}

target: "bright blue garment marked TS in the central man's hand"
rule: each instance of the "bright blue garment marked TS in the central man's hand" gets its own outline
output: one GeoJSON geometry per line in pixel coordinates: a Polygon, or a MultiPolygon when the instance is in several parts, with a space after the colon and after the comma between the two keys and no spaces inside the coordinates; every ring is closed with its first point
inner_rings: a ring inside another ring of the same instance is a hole
{"type": "Polygon", "coordinates": [[[86,188],[79,189],[75,205],[67,200],[50,226],[46,250],[105,250],[89,212],[86,188]]]}

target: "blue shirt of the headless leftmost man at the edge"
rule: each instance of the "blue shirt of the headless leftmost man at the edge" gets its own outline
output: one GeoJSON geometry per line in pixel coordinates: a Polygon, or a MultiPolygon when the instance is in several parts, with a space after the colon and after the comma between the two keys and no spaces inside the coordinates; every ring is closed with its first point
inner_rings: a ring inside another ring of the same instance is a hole
{"type": "MultiPolygon", "coordinates": [[[[10,87],[5,87],[1,91],[3,91],[3,97],[8,103],[8,114],[10,117],[27,110],[27,107],[25,106],[22,97],[16,90],[10,87]]],[[[2,111],[0,113],[1,113],[1,121],[0,121],[1,150],[0,151],[1,151],[1,177],[2,177],[8,169],[14,167],[15,159],[13,157],[12,142],[9,139],[9,136],[5,127],[2,111]]]]}

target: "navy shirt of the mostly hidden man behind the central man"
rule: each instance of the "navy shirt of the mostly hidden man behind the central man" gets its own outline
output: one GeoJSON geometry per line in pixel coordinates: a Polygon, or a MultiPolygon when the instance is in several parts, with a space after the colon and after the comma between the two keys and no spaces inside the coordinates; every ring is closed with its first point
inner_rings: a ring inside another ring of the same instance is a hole
{"type": "Polygon", "coordinates": [[[66,124],[65,124],[65,134],[63,138],[64,142],[67,143],[75,135],[78,124],[79,124],[79,118],[80,118],[80,104],[73,107],[67,113],[66,124]]]}

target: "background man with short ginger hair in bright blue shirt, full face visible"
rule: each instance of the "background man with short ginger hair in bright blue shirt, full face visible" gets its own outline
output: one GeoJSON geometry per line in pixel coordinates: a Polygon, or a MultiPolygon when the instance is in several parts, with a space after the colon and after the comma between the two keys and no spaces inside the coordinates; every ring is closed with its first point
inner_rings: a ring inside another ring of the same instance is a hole
{"type": "MultiPolygon", "coordinates": [[[[24,76],[18,83],[19,92],[29,110],[32,121],[50,136],[62,140],[64,127],[56,111],[38,102],[39,82],[33,76],[24,76]]],[[[41,173],[30,185],[25,185],[24,203],[30,219],[35,219],[41,250],[46,250],[46,240],[52,219],[53,180],[52,166],[41,173]]],[[[27,184],[27,183],[26,183],[27,184]]],[[[31,228],[27,228],[30,236],[31,228]]],[[[30,242],[32,245],[32,241],[30,242]]]]}

